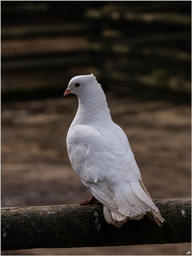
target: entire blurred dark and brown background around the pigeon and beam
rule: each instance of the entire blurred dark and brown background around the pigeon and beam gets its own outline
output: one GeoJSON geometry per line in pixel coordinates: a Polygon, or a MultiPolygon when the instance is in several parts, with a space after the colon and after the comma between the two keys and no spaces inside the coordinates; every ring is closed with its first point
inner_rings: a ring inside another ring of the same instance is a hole
{"type": "MultiPolygon", "coordinates": [[[[191,1],[1,1],[1,206],[74,204],[63,98],[93,73],[152,198],[191,197],[191,1]]],[[[191,244],[2,255],[185,255],[191,244]]]]}

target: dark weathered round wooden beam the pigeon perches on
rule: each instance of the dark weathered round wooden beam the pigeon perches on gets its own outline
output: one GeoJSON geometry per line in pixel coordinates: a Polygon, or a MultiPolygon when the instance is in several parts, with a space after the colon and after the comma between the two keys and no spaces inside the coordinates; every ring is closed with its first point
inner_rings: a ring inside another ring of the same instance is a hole
{"type": "Polygon", "coordinates": [[[103,205],[1,209],[1,250],[191,242],[191,198],[153,199],[166,222],[148,216],[122,228],[104,220],[103,205]]]}

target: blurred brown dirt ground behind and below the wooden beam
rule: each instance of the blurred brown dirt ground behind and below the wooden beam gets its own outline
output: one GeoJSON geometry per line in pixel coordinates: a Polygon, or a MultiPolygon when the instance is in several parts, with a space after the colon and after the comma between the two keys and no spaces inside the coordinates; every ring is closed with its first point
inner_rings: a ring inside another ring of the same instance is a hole
{"type": "MultiPolygon", "coordinates": [[[[190,104],[106,96],[151,197],[191,197],[190,104]]],[[[74,95],[2,104],[2,207],[74,204],[89,198],[66,151],[66,134],[77,107],[74,95]]],[[[1,255],[186,255],[188,251],[190,243],[31,249],[1,255]]]]}

